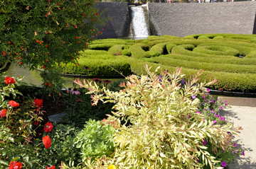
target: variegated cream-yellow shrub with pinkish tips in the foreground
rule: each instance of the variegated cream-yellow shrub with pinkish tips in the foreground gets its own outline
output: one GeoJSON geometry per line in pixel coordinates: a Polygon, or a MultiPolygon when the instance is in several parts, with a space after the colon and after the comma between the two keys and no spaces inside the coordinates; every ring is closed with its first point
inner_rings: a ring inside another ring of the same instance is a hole
{"type": "Polygon", "coordinates": [[[205,86],[213,85],[216,80],[197,83],[199,71],[182,89],[177,85],[184,76],[181,69],[174,74],[161,70],[160,79],[157,69],[151,72],[147,65],[145,68],[148,75],[128,76],[128,82],[120,85],[124,87],[122,91],[100,89],[96,83],[81,83],[79,79],[74,81],[94,94],[92,105],[103,99],[105,103],[115,103],[117,112],[112,113],[119,121],[132,124],[116,127],[117,146],[108,163],[111,161],[117,168],[203,168],[204,165],[215,168],[220,161],[210,156],[205,141],[215,153],[220,148],[233,151],[230,139],[242,129],[230,123],[213,125],[196,112],[200,102],[198,98],[192,100],[192,95],[202,95],[207,90],[205,86]],[[194,83],[197,84],[193,86],[194,83]]]}

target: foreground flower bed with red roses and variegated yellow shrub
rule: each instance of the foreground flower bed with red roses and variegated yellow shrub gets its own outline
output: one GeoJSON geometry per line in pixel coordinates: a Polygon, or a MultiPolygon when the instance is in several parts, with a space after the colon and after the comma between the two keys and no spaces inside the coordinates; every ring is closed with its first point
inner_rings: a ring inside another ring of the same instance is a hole
{"type": "Polygon", "coordinates": [[[244,155],[232,141],[240,127],[218,115],[227,103],[208,94],[215,81],[145,70],[107,88],[109,81],[78,79],[87,89],[60,94],[68,105],[63,124],[42,124],[43,100],[21,102],[20,79],[1,76],[0,168],[220,168],[244,155]]]}

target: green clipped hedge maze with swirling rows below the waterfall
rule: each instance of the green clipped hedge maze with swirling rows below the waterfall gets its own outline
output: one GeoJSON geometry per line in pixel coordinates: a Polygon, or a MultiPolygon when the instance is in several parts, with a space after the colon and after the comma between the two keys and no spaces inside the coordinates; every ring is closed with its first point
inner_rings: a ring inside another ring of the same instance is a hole
{"type": "Polygon", "coordinates": [[[218,79],[210,88],[256,93],[256,35],[202,34],[149,36],[146,40],[95,40],[78,64],[63,73],[114,75],[144,73],[144,64],[174,71],[183,67],[186,78],[202,70],[200,81],[218,79]],[[90,69],[85,69],[85,67],[90,69]],[[111,66],[111,67],[110,67],[111,66]]]}

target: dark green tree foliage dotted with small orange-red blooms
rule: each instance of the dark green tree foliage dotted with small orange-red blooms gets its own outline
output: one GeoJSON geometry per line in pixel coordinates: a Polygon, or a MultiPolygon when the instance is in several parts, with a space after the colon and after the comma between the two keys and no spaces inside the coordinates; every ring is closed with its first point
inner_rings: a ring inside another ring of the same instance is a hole
{"type": "MultiPolygon", "coordinates": [[[[104,11],[95,0],[0,1],[0,64],[14,62],[49,70],[79,59],[78,52],[101,33],[104,11]]],[[[2,69],[1,71],[4,71],[2,69]]]]}

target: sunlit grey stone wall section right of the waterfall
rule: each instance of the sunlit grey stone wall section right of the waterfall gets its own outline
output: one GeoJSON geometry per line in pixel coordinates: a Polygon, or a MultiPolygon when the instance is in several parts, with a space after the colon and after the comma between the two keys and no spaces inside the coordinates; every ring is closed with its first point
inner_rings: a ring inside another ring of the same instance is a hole
{"type": "Polygon", "coordinates": [[[149,3],[154,35],[255,34],[255,1],[227,3],[149,3]]]}

